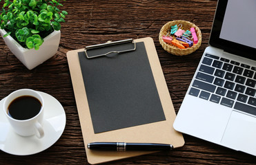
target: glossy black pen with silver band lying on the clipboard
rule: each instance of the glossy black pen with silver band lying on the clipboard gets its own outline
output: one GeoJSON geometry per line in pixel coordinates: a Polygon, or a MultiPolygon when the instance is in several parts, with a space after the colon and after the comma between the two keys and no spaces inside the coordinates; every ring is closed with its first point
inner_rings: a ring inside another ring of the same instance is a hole
{"type": "Polygon", "coordinates": [[[105,151],[170,151],[173,149],[173,145],[157,143],[92,142],[87,144],[87,148],[105,151]]]}

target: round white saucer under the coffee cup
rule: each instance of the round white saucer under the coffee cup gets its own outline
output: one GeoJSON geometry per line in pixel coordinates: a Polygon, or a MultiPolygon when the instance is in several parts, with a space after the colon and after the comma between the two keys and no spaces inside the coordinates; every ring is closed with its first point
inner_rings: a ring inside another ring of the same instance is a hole
{"type": "Polygon", "coordinates": [[[0,101],[0,149],[12,155],[32,155],[46,150],[61,137],[66,126],[66,113],[59,101],[49,94],[39,91],[45,100],[43,130],[44,137],[35,135],[23,137],[14,132],[3,113],[0,101]]]}

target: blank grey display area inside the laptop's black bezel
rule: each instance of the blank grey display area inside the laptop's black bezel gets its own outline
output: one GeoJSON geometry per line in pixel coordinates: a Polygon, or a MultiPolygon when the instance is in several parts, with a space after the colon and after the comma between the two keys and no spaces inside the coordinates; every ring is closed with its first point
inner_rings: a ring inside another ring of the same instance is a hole
{"type": "Polygon", "coordinates": [[[229,0],[219,37],[256,48],[255,17],[255,0],[229,0]]]}

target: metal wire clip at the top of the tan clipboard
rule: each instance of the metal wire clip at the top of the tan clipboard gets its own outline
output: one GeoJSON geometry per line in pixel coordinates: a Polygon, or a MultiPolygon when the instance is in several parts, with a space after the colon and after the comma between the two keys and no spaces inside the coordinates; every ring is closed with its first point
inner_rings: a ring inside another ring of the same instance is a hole
{"type": "Polygon", "coordinates": [[[98,45],[90,45],[90,46],[87,46],[85,49],[84,49],[84,52],[86,53],[86,58],[90,59],[90,58],[97,58],[97,57],[100,57],[100,56],[107,56],[108,54],[112,54],[112,53],[117,53],[117,54],[121,54],[121,53],[124,53],[124,52],[130,52],[130,51],[134,51],[136,50],[136,43],[133,39],[126,39],[126,40],[121,40],[121,41],[113,41],[113,42],[107,42],[107,43],[101,43],[101,44],[98,44],[98,45]],[[97,49],[97,48],[101,48],[101,47],[109,47],[109,46],[112,46],[112,45],[119,45],[119,44],[125,44],[125,43],[130,43],[133,45],[132,48],[129,48],[127,50],[110,50],[109,52],[104,52],[102,54],[94,54],[93,56],[88,56],[88,50],[94,50],[94,49],[97,49]]]}

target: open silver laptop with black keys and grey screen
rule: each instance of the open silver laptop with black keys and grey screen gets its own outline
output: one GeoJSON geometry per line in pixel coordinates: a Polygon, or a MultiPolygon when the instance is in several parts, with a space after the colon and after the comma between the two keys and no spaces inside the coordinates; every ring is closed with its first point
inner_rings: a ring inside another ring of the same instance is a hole
{"type": "Polygon", "coordinates": [[[174,128],[256,155],[256,1],[217,3],[208,47],[174,128]]]}

